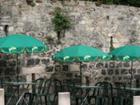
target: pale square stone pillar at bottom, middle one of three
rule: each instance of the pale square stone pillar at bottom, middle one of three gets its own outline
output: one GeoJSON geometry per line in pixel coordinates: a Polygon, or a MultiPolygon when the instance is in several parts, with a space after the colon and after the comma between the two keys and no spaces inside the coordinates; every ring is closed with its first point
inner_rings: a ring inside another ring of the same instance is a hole
{"type": "Polygon", "coordinates": [[[58,105],[70,105],[70,92],[58,93],[58,105]]]}

